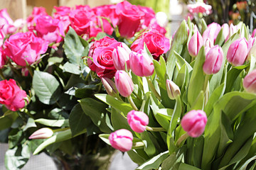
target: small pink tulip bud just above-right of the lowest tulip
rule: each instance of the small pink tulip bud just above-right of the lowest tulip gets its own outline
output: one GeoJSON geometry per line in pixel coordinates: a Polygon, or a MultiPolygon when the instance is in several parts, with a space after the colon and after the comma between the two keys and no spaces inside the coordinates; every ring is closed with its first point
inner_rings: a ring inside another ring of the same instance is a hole
{"type": "Polygon", "coordinates": [[[129,111],[127,121],[134,132],[144,132],[149,125],[149,117],[141,111],[129,111]]]}

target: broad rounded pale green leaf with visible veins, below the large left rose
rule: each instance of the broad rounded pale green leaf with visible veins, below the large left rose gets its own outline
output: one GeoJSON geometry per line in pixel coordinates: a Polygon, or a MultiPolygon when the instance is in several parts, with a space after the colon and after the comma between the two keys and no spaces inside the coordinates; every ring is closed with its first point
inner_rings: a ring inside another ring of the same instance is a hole
{"type": "Polygon", "coordinates": [[[32,84],[36,96],[42,103],[50,105],[58,101],[61,89],[59,82],[53,75],[47,72],[35,71],[32,84]]]}

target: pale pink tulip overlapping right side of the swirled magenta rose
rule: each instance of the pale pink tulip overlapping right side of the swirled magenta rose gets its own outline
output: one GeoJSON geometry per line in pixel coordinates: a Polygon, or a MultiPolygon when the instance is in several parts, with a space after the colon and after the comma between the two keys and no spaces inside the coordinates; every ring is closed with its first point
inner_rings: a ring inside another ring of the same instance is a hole
{"type": "Polygon", "coordinates": [[[127,70],[129,70],[129,53],[132,52],[129,47],[122,42],[122,47],[117,47],[112,53],[112,60],[115,69],[125,70],[125,64],[127,64],[127,70]]]}

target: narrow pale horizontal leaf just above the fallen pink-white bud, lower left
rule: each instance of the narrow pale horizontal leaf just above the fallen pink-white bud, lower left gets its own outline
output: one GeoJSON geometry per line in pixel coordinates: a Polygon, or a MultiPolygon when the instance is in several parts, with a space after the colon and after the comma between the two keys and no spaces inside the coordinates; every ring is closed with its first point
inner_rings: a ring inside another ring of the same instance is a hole
{"type": "Polygon", "coordinates": [[[35,120],[35,123],[40,123],[42,125],[47,125],[50,127],[69,127],[68,119],[50,120],[50,119],[39,118],[35,120]]]}

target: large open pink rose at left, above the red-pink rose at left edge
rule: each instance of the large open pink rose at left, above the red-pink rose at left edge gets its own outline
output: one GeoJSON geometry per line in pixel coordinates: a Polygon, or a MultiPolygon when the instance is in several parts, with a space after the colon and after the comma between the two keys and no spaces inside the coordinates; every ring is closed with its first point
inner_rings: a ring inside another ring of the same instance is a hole
{"type": "Polygon", "coordinates": [[[33,64],[41,58],[48,48],[48,42],[42,38],[37,38],[32,32],[16,33],[11,35],[4,42],[6,55],[16,64],[26,66],[33,64]]]}

